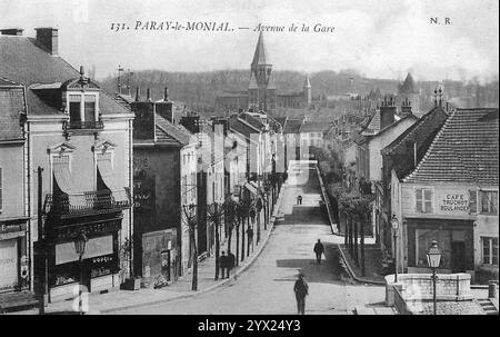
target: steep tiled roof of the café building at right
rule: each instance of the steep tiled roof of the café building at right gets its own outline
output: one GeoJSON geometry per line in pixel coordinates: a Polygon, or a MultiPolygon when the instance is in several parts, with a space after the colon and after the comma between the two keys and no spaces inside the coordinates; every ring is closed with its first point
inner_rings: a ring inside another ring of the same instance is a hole
{"type": "Polygon", "coordinates": [[[457,109],[403,181],[498,185],[498,108],[457,109]]]}

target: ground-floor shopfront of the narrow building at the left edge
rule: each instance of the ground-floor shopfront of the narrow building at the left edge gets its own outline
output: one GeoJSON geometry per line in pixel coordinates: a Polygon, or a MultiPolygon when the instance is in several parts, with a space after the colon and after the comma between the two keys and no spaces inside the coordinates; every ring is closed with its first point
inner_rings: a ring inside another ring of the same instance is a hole
{"type": "Polygon", "coordinates": [[[0,220],[0,293],[29,288],[27,219],[0,220]]]}

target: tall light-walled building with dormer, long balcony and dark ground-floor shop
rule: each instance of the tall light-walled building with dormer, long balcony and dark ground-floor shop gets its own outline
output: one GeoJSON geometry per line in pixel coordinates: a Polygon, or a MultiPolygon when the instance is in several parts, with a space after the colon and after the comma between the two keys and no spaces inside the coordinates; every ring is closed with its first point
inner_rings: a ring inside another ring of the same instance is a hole
{"type": "Polygon", "coordinates": [[[73,297],[79,283],[101,291],[132,274],[133,115],[59,56],[58,29],[36,31],[34,39],[2,31],[0,77],[24,90],[27,249],[36,284],[46,285],[47,268],[49,300],[57,300],[73,297]],[[81,274],[80,232],[88,237],[81,274]]]}

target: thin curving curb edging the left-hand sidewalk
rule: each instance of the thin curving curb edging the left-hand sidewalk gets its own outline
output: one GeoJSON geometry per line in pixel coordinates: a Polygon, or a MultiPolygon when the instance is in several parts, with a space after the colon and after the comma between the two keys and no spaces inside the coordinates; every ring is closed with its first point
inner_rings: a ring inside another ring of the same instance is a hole
{"type": "Polygon", "coordinates": [[[244,266],[241,266],[240,269],[238,269],[234,274],[232,274],[229,278],[219,281],[208,288],[198,290],[196,293],[190,293],[190,294],[186,294],[186,295],[179,295],[179,296],[174,296],[174,297],[169,297],[169,298],[163,298],[163,299],[159,299],[159,300],[154,300],[154,301],[148,301],[148,303],[141,303],[141,304],[134,304],[134,305],[128,305],[128,306],[121,306],[121,307],[114,307],[114,308],[109,308],[109,309],[102,309],[92,314],[110,314],[110,313],[116,313],[116,311],[122,311],[122,310],[128,310],[128,309],[133,309],[133,308],[141,308],[141,307],[147,307],[147,306],[154,306],[154,305],[160,305],[160,304],[166,304],[172,300],[178,300],[178,299],[186,299],[186,298],[191,298],[194,297],[197,295],[202,295],[206,293],[209,293],[218,287],[221,287],[226,284],[228,284],[229,281],[236,279],[240,274],[242,274],[243,271],[246,271],[253,262],[254,260],[260,256],[260,254],[262,252],[263,248],[266,247],[266,245],[269,241],[269,238],[272,235],[272,231],[274,229],[274,221],[278,215],[278,210],[281,207],[281,199],[282,199],[282,194],[279,195],[278,200],[276,202],[274,206],[274,214],[271,216],[270,221],[269,221],[269,234],[266,237],[266,239],[262,241],[262,244],[260,245],[260,247],[258,248],[258,250],[256,251],[256,254],[249,259],[247,260],[247,264],[244,266]]]}

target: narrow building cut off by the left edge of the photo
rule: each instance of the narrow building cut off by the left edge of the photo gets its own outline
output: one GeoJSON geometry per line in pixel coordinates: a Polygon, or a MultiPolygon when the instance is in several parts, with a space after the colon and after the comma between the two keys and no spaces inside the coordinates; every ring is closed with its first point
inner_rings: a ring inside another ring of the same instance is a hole
{"type": "Polygon", "coordinates": [[[0,77],[0,306],[32,288],[24,102],[24,87],[0,77]]]}

